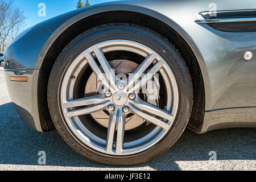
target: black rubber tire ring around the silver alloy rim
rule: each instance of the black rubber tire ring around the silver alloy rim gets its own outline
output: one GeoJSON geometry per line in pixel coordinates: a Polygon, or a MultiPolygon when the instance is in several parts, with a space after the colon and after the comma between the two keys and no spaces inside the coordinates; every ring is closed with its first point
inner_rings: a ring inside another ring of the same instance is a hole
{"type": "Polygon", "coordinates": [[[53,123],[61,137],[82,156],[98,163],[115,166],[131,166],[152,160],[171,148],[184,132],[189,121],[193,105],[191,76],[180,53],[162,36],[141,26],[133,24],[108,24],[86,31],[64,48],[52,68],[48,83],[48,106],[53,123]],[[92,150],[72,134],[61,114],[59,92],[61,80],[67,68],[82,51],[96,43],[127,39],[142,43],[158,52],[168,62],[174,72],[179,87],[179,109],[170,133],[155,146],[139,154],[130,156],[110,156],[92,150]],[[165,50],[165,51],[163,51],[165,50]]]}

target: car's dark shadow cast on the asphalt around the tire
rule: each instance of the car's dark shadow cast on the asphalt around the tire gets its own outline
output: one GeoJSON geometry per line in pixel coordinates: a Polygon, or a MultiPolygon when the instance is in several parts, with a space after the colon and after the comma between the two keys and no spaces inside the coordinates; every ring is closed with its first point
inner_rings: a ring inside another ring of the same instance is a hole
{"type": "MultiPolygon", "coordinates": [[[[85,159],[57,131],[41,134],[29,129],[20,121],[12,103],[0,105],[0,131],[0,164],[38,165],[38,152],[45,151],[47,166],[120,168],[85,159]]],[[[185,130],[170,150],[134,169],[148,166],[156,170],[180,170],[177,161],[209,160],[210,151],[216,151],[217,160],[255,160],[255,131],[225,129],[199,135],[185,130]]]]}

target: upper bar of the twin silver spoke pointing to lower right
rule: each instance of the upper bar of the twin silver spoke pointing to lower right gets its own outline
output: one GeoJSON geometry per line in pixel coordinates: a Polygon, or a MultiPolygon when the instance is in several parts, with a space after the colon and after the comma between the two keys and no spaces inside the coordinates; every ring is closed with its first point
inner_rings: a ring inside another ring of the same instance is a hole
{"type": "Polygon", "coordinates": [[[152,115],[157,115],[160,118],[167,119],[170,122],[174,122],[174,116],[167,111],[159,109],[158,107],[141,100],[141,98],[136,98],[135,101],[131,101],[131,105],[139,108],[140,110],[146,111],[152,115]]]}

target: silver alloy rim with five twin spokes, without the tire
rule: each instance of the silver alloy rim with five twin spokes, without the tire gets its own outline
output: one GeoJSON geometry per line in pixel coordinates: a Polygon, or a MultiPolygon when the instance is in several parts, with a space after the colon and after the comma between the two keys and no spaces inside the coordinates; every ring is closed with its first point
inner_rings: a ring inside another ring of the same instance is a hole
{"type": "Polygon", "coordinates": [[[168,134],[177,114],[179,90],[171,68],[151,48],[130,40],[109,40],[86,49],[76,57],[63,78],[60,103],[64,119],[78,139],[103,154],[123,156],[147,150],[168,134]],[[115,80],[112,68],[104,56],[105,53],[113,51],[134,52],[145,58],[143,63],[135,69],[134,74],[129,76],[127,84],[123,80],[115,80]],[[95,96],[74,100],[76,78],[87,66],[92,68],[105,89],[95,96]],[[147,75],[143,75],[146,71],[147,75]],[[147,85],[147,81],[156,73],[160,73],[165,85],[166,101],[164,102],[166,105],[164,109],[149,104],[142,100],[138,93],[135,93],[136,90],[147,85]],[[139,78],[141,80],[137,81],[139,78]],[[109,91],[112,93],[111,96],[109,91]],[[129,94],[133,93],[137,96],[130,99],[129,94]],[[101,110],[109,113],[109,127],[103,137],[102,132],[87,126],[89,121],[81,119],[84,115],[101,110]],[[127,139],[125,121],[129,114],[143,118],[152,123],[154,127],[127,139]]]}

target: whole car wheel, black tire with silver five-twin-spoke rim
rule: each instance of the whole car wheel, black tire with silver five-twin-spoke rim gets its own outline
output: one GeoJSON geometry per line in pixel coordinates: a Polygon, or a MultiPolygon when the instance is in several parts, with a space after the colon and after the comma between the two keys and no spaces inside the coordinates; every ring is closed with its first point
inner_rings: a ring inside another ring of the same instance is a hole
{"type": "Polygon", "coordinates": [[[61,137],[104,164],[140,164],[167,151],[185,130],[192,104],[180,53],[133,24],[84,32],[60,53],[49,77],[49,111],[61,137]]]}

